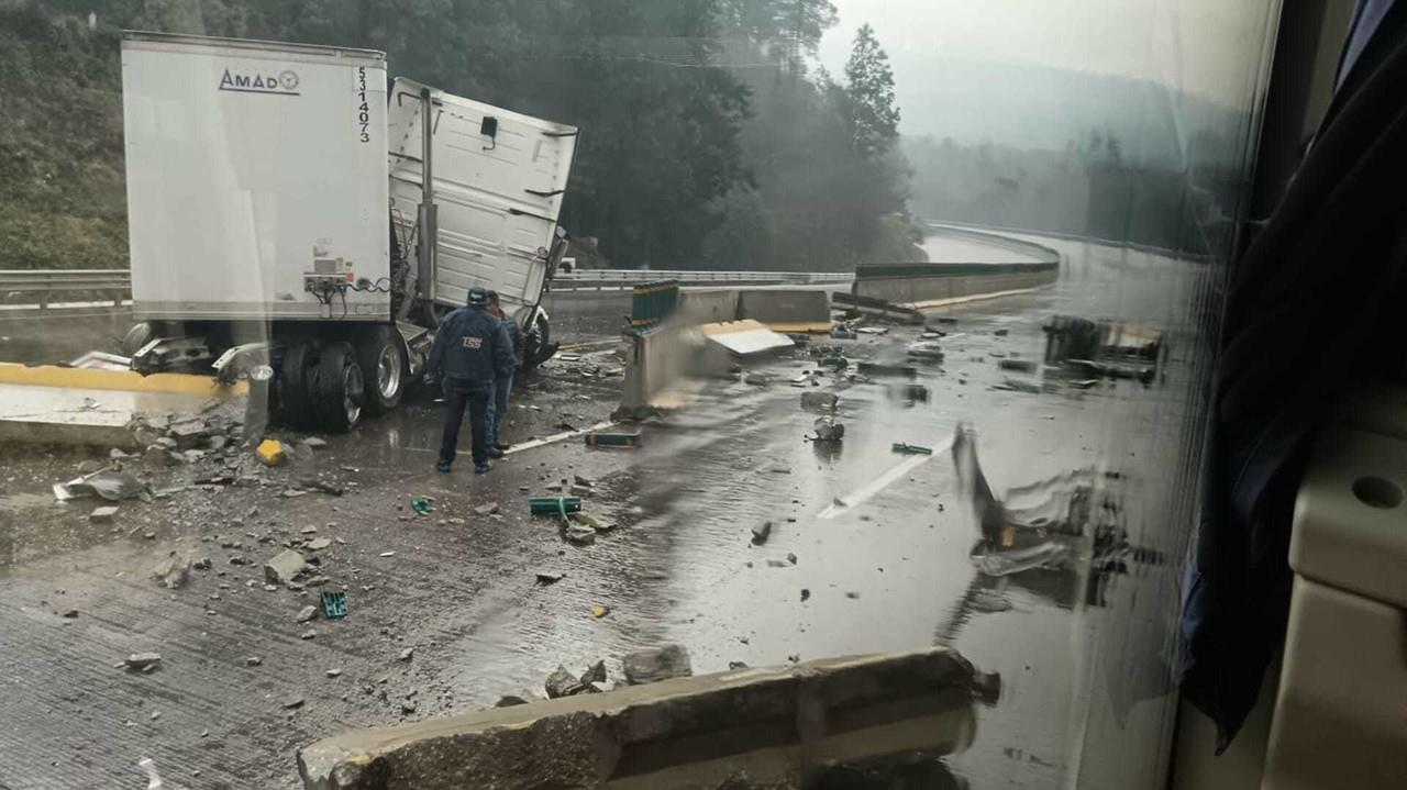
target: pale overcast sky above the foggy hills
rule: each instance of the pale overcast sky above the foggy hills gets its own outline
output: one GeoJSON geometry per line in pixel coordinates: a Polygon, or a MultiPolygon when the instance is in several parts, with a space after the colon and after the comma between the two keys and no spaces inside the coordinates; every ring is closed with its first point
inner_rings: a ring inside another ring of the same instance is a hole
{"type": "MultiPolygon", "coordinates": [[[[1271,0],[833,0],[840,24],[822,39],[819,59],[840,75],[855,30],[870,22],[889,53],[905,134],[981,134],[982,94],[1003,111],[986,131],[1000,136],[1012,124],[1040,124],[1038,115],[1013,118],[1021,104],[1020,75],[1062,69],[1110,77],[1152,80],[1182,94],[1247,107],[1271,30],[1271,0]],[[943,84],[946,79],[986,86],[943,84]],[[961,107],[947,98],[961,93],[961,107]],[[936,107],[934,104],[944,104],[936,107]]],[[[1040,82],[1040,80],[1036,80],[1040,82]]],[[[1107,82],[1107,80],[1106,80],[1107,82]]],[[[1033,97],[1044,98],[1044,97],[1033,97]]],[[[1050,103],[1045,103],[1048,112],[1050,103]]],[[[1068,118],[1062,121],[1071,121],[1068,118]]]]}

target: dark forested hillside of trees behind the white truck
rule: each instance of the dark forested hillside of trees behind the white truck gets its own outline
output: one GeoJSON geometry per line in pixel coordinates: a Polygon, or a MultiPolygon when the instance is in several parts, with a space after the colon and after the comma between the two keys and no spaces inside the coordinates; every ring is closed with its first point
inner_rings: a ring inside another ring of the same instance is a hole
{"type": "Polygon", "coordinates": [[[580,127],[561,224],[588,263],[922,259],[893,73],[830,0],[51,0],[0,7],[0,268],[125,266],[121,30],[381,49],[393,76],[580,127]]]}

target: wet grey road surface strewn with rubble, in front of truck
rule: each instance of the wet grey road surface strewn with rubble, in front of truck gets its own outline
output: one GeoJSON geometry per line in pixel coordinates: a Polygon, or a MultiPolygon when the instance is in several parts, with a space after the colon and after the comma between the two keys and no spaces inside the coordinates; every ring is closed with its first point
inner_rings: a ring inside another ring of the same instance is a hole
{"type": "MultiPolygon", "coordinates": [[[[1161,786],[1176,562],[1103,574],[1089,541],[1072,541],[1054,566],[981,578],[969,558],[976,520],[941,451],[960,422],[971,423],[999,496],[1088,467],[1116,471],[1128,541],[1162,557],[1183,551],[1175,482],[1200,273],[1050,243],[1068,256],[1058,285],[940,311],[957,323],[946,326],[944,364],[919,375],[927,403],[892,398],[889,380],[826,377],[816,389],[839,394],[847,426],[839,453],[805,440],[815,415],[788,380],[813,365],[784,356],[756,368],[770,387],[706,382],[695,406],[646,426],[639,451],[573,437],[515,454],[488,478],[442,477],[429,470],[438,419],[422,399],[303,461],[359,484],[342,498],[281,499],[274,481],[191,491],[124,506],[118,534],[46,500],[48,482],[76,457],[10,455],[15,479],[0,498],[0,519],[11,522],[11,561],[0,571],[0,786],[141,787],[135,762],[149,755],[167,782],[190,787],[295,787],[293,752],[318,737],[473,710],[507,693],[540,696],[559,663],[580,671],[605,658],[618,676],[622,654],[670,641],[689,649],[696,672],[954,644],[1003,679],[1000,701],[979,708],[972,749],[953,759],[972,787],[1161,786]],[[1165,375],[1148,388],[1081,391],[1044,371],[998,370],[995,354],[1040,358],[1041,325],[1061,312],[1164,330],[1165,375]],[[1044,389],[993,389],[1006,378],[1044,389]],[[896,455],[893,441],[940,451],[896,455]],[[587,547],[525,513],[528,496],[573,475],[595,482],[587,510],[618,524],[587,547]],[[411,516],[411,495],[435,496],[436,512],[411,516]],[[850,506],[836,507],[837,498],[850,506]],[[497,516],[473,512],[491,502],[497,516]],[[751,527],[765,520],[771,537],[754,547],[751,527]],[[315,621],[312,640],[293,621],[311,592],[266,592],[257,565],[229,565],[305,540],[307,526],[340,538],[318,552],[321,572],[348,589],[352,610],[315,621]],[[221,548],[232,540],[246,545],[221,548]],[[173,550],[211,555],[212,571],[160,589],[148,572],[173,550]],[[539,569],[566,576],[543,586],[539,569]],[[609,613],[594,617],[595,604],[609,613]],[[68,609],[79,617],[61,617],[68,609]],[[414,658],[400,661],[407,647],[414,658]],[[144,649],[163,654],[159,672],[113,668],[144,649]],[[249,655],[262,663],[246,666],[249,655]]],[[[898,360],[913,335],[839,344],[853,363],[898,360]]],[[[539,409],[515,412],[509,437],[604,419],[618,382],[584,380],[581,363],[553,367],[519,398],[539,409]]]]}

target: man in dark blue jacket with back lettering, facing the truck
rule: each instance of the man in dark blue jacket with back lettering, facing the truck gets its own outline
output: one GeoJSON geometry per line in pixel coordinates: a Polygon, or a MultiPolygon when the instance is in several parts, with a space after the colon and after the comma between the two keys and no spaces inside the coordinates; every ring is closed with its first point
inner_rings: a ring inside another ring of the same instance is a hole
{"type": "Polygon", "coordinates": [[[440,322],[431,347],[429,371],[445,391],[445,434],[436,470],[454,462],[459,427],[469,408],[474,472],[488,471],[487,417],[494,381],[514,373],[514,344],[501,320],[488,312],[488,291],[469,290],[469,304],[440,322]]]}

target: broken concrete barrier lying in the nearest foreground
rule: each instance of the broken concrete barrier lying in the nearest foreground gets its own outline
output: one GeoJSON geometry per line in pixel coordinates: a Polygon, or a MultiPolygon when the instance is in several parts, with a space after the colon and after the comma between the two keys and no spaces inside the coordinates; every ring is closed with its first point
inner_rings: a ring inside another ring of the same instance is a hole
{"type": "Polygon", "coordinates": [[[989,678],[947,648],[743,669],[318,741],[308,790],[801,787],[806,773],[975,734],[989,678]]]}

